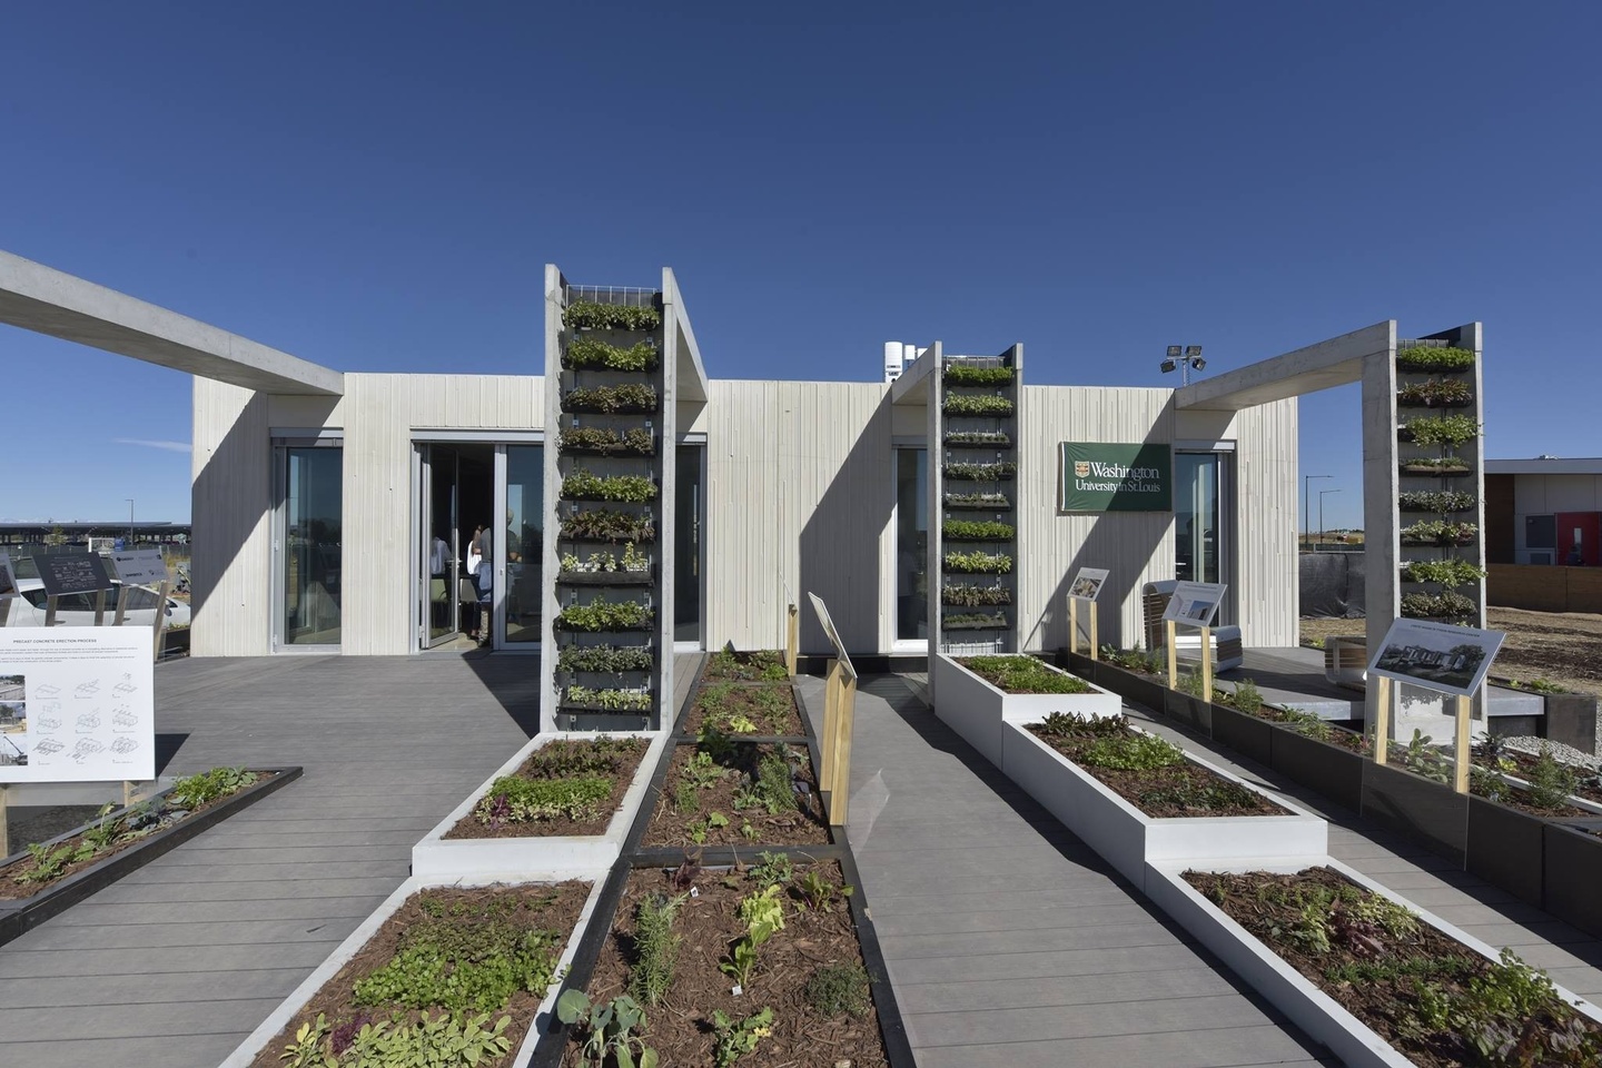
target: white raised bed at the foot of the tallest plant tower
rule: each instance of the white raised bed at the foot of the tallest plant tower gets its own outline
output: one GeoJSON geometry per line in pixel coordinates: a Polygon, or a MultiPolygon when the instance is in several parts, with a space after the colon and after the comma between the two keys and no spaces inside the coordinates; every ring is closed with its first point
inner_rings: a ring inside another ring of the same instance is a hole
{"type": "Polygon", "coordinates": [[[665,745],[665,733],[642,732],[535,737],[412,847],[412,874],[606,869],[622,852],[665,745]]]}

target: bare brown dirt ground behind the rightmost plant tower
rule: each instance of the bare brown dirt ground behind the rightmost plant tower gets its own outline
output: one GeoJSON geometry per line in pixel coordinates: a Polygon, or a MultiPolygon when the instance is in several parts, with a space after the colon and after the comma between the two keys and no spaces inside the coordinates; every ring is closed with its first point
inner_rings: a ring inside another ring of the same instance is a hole
{"type": "MultiPolygon", "coordinates": [[[[1506,631],[1493,679],[1544,679],[1565,690],[1602,697],[1602,615],[1488,608],[1487,626],[1506,631]]],[[[1362,634],[1362,620],[1302,620],[1301,640],[1362,634]]]]}

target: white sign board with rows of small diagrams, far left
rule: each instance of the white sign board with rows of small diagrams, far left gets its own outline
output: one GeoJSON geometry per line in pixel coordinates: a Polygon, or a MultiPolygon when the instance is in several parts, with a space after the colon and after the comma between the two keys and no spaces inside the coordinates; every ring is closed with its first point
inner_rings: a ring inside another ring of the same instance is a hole
{"type": "Polygon", "coordinates": [[[0,629],[0,783],[155,778],[144,628],[0,629]]]}

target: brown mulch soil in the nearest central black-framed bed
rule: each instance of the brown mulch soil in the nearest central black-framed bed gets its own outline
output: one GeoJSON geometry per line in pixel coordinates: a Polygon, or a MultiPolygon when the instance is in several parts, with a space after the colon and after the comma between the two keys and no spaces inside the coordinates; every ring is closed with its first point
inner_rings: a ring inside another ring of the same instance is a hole
{"type": "MultiPolygon", "coordinates": [[[[830,882],[839,884],[838,865],[820,863],[817,868],[830,882]]],[[[796,863],[798,877],[803,871],[804,866],[796,863]]],[[[833,1068],[839,1062],[851,1062],[852,1068],[883,1068],[889,1063],[879,1042],[878,1014],[871,1007],[862,1015],[830,1018],[812,1009],[803,993],[819,966],[862,964],[862,951],[844,903],[836,898],[831,911],[804,908],[791,890],[785,900],[785,929],[761,946],[751,982],[735,998],[731,993],[734,980],[718,969],[718,962],[727,958],[729,943],[745,933],[737,911],[740,900],[761,892],[763,884],[748,873],[703,871],[694,885],[697,895],[679,906],[673,924],[682,942],[671,988],[662,1004],[644,1007],[644,1038],[663,1065],[713,1063],[714,1009],[743,1020],[769,1007],[774,1010],[772,1034],[763,1038],[740,1060],[742,1065],[833,1068]]],[[[634,871],[630,876],[612,937],[601,950],[586,991],[591,999],[609,1001],[628,990],[639,901],[678,892],[660,869],[634,871]]],[[[886,982],[884,977],[873,980],[886,982]]],[[[562,1062],[569,1068],[580,1063],[577,1038],[569,1044],[562,1062]]]]}

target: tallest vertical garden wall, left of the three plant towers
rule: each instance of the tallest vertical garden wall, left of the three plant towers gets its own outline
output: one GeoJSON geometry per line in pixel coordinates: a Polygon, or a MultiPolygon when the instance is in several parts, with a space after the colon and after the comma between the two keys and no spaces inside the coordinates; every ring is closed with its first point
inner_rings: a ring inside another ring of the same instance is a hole
{"type": "Polygon", "coordinates": [[[673,655],[663,298],[553,267],[546,301],[541,730],[655,729],[673,655]]]}

